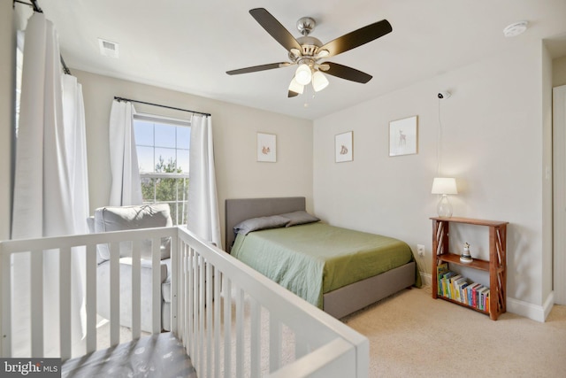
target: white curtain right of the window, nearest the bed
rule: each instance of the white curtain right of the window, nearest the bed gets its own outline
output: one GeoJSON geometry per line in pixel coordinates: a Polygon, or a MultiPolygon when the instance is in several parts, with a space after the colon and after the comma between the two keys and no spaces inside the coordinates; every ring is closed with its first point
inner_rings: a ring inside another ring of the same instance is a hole
{"type": "Polygon", "coordinates": [[[210,116],[191,120],[188,177],[187,228],[222,248],[210,116]]]}

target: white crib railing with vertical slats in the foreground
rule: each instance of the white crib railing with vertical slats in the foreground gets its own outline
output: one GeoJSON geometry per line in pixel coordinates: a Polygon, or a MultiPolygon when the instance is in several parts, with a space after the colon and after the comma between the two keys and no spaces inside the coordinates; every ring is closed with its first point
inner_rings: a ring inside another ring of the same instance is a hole
{"type": "MultiPolygon", "coordinates": [[[[111,284],[119,287],[119,244],[152,241],[152,324],[160,331],[161,281],[158,269],[162,237],[172,237],[172,332],[185,345],[199,377],[366,377],[368,340],[339,320],[256,273],[226,252],[204,243],[185,228],[151,228],[92,235],[50,237],[0,243],[0,356],[14,357],[11,307],[13,256],[30,256],[29,328],[31,353],[46,357],[43,309],[59,308],[59,351],[63,360],[96,351],[96,244],[110,243],[111,284]],[[71,326],[72,256],[84,257],[86,272],[85,345],[73,350],[71,326]],[[42,297],[44,258],[58,257],[59,303],[42,297]]],[[[132,337],[141,336],[140,256],[134,252],[132,337]]],[[[110,343],[119,339],[119,290],[110,293],[110,343]]],[[[22,319],[26,319],[25,316],[22,319]]],[[[48,356],[49,357],[49,356],[48,356]]]]}

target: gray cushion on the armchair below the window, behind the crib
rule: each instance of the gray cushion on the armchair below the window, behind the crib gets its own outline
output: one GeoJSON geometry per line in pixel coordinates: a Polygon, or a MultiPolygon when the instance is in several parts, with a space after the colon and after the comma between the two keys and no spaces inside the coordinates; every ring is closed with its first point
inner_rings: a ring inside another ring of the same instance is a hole
{"type": "MultiPolygon", "coordinates": [[[[171,227],[169,204],[141,204],[134,206],[107,206],[95,211],[95,232],[123,231],[138,228],[171,227]]],[[[171,257],[171,238],[161,239],[161,259],[171,257]]],[[[98,246],[98,254],[110,259],[108,244],[98,246]]],[[[151,241],[142,242],[142,258],[151,258],[151,241]]],[[[132,257],[132,243],[120,243],[120,258],[132,257]]]]}

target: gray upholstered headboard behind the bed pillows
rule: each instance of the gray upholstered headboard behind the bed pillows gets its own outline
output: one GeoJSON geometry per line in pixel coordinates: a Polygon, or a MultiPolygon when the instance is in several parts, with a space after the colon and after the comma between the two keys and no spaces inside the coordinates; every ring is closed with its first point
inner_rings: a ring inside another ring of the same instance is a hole
{"type": "Polygon", "coordinates": [[[305,197],[226,199],[226,251],[235,239],[233,227],[242,220],[306,210],[305,197]]]}

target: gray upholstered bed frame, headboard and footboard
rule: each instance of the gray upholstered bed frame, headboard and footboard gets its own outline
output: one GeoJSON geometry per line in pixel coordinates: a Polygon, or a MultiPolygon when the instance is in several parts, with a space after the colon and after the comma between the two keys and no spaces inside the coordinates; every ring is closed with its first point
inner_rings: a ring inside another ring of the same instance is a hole
{"type": "MultiPolygon", "coordinates": [[[[231,251],[235,239],[233,227],[242,220],[306,210],[305,203],[305,197],[226,199],[226,251],[231,251]]],[[[323,309],[336,319],[343,318],[410,288],[415,283],[416,272],[415,262],[411,261],[383,274],[335,289],[323,295],[323,309]]]]}

